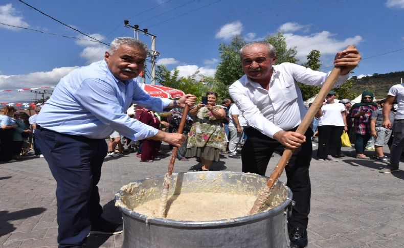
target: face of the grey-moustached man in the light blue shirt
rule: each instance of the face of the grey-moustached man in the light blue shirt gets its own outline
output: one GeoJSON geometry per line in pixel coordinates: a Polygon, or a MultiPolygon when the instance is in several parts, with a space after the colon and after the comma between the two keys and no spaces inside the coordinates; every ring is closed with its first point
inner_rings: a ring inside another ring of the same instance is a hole
{"type": "Polygon", "coordinates": [[[121,45],[110,54],[105,52],[109,71],[120,80],[136,78],[145,67],[147,54],[139,48],[121,45]]]}

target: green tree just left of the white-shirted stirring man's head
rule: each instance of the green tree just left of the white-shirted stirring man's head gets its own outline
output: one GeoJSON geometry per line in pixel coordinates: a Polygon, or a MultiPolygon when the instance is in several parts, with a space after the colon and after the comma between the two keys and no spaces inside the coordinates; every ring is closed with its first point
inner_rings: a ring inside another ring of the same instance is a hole
{"type": "Polygon", "coordinates": [[[225,85],[231,85],[241,78],[244,73],[238,51],[246,44],[241,35],[236,35],[230,44],[220,43],[219,54],[221,61],[216,67],[215,79],[225,85]]]}

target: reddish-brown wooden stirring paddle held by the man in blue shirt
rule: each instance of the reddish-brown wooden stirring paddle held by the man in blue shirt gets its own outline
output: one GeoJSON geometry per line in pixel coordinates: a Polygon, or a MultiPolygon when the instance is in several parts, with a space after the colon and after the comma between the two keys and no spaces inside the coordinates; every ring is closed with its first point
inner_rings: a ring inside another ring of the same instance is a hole
{"type": "MultiPolygon", "coordinates": [[[[188,111],[189,111],[189,106],[185,105],[184,111],[183,111],[183,117],[181,118],[181,122],[179,122],[177,133],[183,133],[185,121],[187,120],[188,111]]],[[[170,164],[168,165],[167,173],[164,176],[163,193],[161,194],[161,197],[160,197],[160,204],[159,204],[159,210],[158,210],[159,211],[158,216],[161,218],[164,218],[166,216],[168,189],[170,188],[170,184],[171,184],[171,175],[172,175],[172,170],[174,169],[174,163],[175,163],[175,159],[177,156],[177,151],[178,151],[177,147],[174,147],[172,149],[170,164]]]]}

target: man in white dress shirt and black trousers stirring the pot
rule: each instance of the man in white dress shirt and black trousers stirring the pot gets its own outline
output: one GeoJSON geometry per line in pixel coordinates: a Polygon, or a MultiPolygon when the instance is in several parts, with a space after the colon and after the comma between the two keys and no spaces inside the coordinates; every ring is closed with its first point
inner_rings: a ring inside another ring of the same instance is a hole
{"type": "MultiPolygon", "coordinates": [[[[313,132],[311,129],[305,135],[295,132],[307,111],[298,82],[321,86],[328,75],[292,63],[275,65],[275,48],[266,42],[246,44],[239,55],[245,75],[229,87],[229,93],[250,125],[245,129],[248,140],[241,151],[242,172],[265,175],[275,150],[296,149],[285,169],[287,186],[296,202],[288,228],[291,247],[305,247],[313,132]]],[[[334,65],[341,66],[343,75],[336,82],[337,86],[348,79],[349,72],[360,60],[356,49],[336,54],[334,65]]]]}

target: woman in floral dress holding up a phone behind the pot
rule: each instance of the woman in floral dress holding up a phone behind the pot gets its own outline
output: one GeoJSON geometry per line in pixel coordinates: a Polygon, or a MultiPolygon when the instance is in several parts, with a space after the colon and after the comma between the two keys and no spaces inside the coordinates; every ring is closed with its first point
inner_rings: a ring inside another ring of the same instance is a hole
{"type": "Polygon", "coordinates": [[[227,138],[221,119],[226,112],[216,106],[217,93],[208,92],[208,104],[198,104],[189,111],[195,116],[194,124],[188,134],[186,157],[200,157],[202,168],[207,171],[213,161],[219,161],[220,151],[226,150],[227,138]]]}

